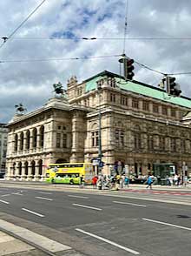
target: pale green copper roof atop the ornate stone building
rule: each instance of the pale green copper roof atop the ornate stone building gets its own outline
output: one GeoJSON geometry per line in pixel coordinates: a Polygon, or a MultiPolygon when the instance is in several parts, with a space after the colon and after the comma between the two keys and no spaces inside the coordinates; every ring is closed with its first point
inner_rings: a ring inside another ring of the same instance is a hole
{"type": "Polygon", "coordinates": [[[168,93],[154,86],[151,86],[148,84],[142,84],[138,82],[130,82],[130,81],[127,82],[122,77],[114,73],[110,73],[108,71],[99,73],[97,76],[89,78],[88,80],[84,81],[84,83],[86,83],[86,92],[95,90],[97,86],[96,81],[100,80],[101,78],[107,77],[107,75],[109,76],[109,74],[112,74],[112,76],[115,77],[117,81],[117,85],[120,88],[122,88],[122,90],[132,91],[137,94],[142,94],[147,97],[156,98],[171,104],[178,104],[183,107],[191,108],[191,99],[189,98],[169,97],[168,93]]]}

